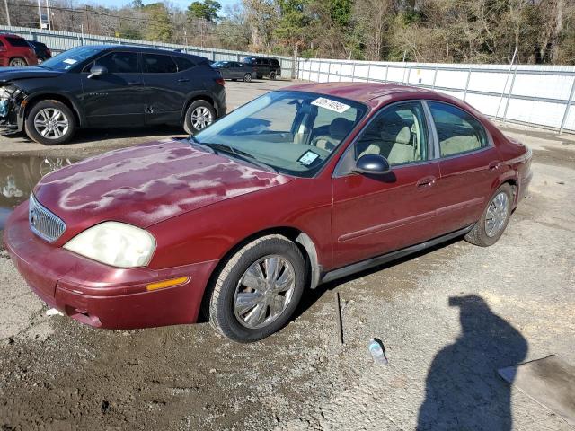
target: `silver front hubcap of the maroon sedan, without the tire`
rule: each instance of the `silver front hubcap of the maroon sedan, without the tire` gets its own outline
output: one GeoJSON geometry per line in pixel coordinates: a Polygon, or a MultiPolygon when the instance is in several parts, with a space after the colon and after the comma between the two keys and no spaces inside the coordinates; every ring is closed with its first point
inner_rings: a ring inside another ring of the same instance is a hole
{"type": "Polygon", "coordinates": [[[296,288],[296,273],[288,259],[265,256],[248,268],[235,289],[234,314],[244,327],[269,325],[286,311],[296,288]]]}

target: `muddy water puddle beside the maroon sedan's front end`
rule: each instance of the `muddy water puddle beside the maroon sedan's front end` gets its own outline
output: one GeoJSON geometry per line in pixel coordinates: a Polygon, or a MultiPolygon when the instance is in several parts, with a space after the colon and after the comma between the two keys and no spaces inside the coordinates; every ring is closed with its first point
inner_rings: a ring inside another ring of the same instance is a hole
{"type": "Polygon", "coordinates": [[[76,160],[42,156],[0,157],[0,230],[4,229],[13,208],[30,196],[40,178],[76,160]]]}

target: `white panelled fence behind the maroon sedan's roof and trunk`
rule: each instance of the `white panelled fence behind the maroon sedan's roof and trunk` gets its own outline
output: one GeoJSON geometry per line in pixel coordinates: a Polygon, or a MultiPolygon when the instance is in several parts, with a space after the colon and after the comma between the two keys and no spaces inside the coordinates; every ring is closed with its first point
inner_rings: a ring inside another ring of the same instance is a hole
{"type": "Polygon", "coordinates": [[[575,132],[575,66],[509,68],[300,58],[298,77],[420,86],[463,99],[494,119],[575,132]]]}

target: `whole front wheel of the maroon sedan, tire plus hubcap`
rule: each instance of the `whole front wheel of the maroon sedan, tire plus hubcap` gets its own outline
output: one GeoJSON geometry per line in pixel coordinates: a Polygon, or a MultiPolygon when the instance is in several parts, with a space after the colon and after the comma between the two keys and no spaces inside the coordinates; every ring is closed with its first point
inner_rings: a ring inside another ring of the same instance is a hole
{"type": "Polygon", "coordinates": [[[265,339],[280,330],[296,310],[304,292],[305,274],[301,251],[285,236],[268,235],[250,242],[226,262],[208,291],[206,308],[210,324],[222,335],[240,343],[265,339]],[[264,280],[266,268],[274,268],[271,264],[274,261],[280,266],[275,266],[278,271],[270,271],[277,274],[270,279],[277,283],[268,284],[264,280]],[[250,275],[246,275],[248,269],[250,275]],[[252,286],[255,284],[258,288],[244,285],[245,279],[252,280],[252,286]],[[285,290],[275,293],[270,286],[285,290]],[[239,295],[246,301],[243,308],[239,295]],[[277,309],[274,311],[272,307],[277,309]]]}

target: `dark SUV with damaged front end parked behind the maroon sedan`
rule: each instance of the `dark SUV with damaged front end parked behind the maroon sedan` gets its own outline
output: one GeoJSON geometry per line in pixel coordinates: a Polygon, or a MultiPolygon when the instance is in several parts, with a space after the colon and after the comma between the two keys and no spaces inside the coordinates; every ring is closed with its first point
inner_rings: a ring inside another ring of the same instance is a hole
{"type": "Polygon", "coordinates": [[[204,57],[153,48],[84,46],[40,66],[0,67],[0,130],[63,144],[77,128],[183,125],[226,115],[225,81],[204,57]]]}

